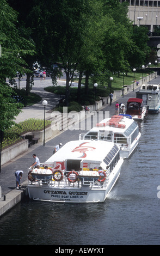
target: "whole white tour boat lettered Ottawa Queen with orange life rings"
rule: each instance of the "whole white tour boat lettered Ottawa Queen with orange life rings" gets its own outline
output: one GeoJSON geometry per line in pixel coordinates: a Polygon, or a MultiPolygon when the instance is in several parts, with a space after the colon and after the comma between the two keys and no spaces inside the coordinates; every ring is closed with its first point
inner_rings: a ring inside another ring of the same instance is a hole
{"type": "Polygon", "coordinates": [[[29,198],[64,203],[104,202],[120,175],[123,161],[114,143],[68,142],[44,163],[44,168],[29,170],[29,198]]]}

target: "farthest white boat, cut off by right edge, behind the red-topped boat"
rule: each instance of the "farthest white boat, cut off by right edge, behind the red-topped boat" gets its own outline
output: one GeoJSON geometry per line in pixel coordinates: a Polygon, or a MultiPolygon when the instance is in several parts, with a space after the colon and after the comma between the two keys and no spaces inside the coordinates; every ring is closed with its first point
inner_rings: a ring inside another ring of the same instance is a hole
{"type": "Polygon", "coordinates": [[[160,108],[160,85],[159,84],[142,84],[137,90],[136,97],[143,99],[144,105],[149,113],[157,114],[160,108]]]}

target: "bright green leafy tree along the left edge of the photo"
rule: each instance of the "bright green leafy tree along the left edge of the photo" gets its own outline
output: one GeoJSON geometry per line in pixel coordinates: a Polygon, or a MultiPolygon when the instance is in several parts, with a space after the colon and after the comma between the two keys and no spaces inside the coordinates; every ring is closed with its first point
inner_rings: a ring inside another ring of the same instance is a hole
{"type": "Polygon", "coordinates": [[[1,0],[0,10],[0,44],[2,56],[0,57],[0,130],[7,129],[14,123],[15,116],[20,113],[22,105],[16,103],[11,95],[13,89],[6,82],[7,78],[13,78],[16,72],[25,72],[24,57],[32,54],[28,50],[29,42],[22,38],[17,31],[16,12],[5,0],[1,0]]]}

